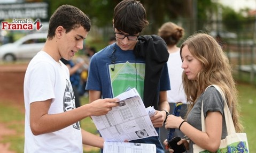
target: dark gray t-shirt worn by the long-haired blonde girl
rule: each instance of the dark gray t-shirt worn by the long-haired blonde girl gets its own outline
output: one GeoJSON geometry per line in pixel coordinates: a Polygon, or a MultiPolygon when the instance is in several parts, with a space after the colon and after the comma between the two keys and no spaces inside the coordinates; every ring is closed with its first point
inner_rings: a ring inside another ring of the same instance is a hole
{"type": "MultiPolygon", "coordinates": [[[[202,100],[204,100],[204,116],[206,117],[206,113],[208,111],[211,112],[220,112],[222,114],[222,136],[221,139],[226,138],[227,136],[227,128],[226,128],[226,122],[224,117],[224,101],[217,89],[215,89],[213,86],[206,89],[206,91],[197,99],[195,105],[191,109],[191,111],[188,114],[187,122],[195,127],[198,130],[202,130],[201,128],[201,104],[202,100]]],[[[192,145],[195,144],[192,141],[189,143],[189,150],[188,152],[193,152],[192,145]]]]}

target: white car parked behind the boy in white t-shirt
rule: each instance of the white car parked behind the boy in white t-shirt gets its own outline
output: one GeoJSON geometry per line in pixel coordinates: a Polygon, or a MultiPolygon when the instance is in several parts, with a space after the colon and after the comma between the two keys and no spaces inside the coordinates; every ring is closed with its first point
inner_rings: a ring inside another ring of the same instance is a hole
{"type": "Polygon", "coordinates": [[[28,34],[14,43],[0,46],[0,59],[6,62],[33,58],[46,41],[47,33],[28,34]]]}

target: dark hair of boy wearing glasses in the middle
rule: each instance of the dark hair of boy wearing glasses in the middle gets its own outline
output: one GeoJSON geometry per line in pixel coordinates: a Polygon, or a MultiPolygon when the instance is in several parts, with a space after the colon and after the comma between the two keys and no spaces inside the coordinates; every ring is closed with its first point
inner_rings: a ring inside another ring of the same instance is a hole
{"type": "Polygon", "coordinates": [[[123,0],[114,8],[114,28],[118,31],[134,35],[141,32],[149,22],[146,20],[146,11],[141,2],[123,0]]]}

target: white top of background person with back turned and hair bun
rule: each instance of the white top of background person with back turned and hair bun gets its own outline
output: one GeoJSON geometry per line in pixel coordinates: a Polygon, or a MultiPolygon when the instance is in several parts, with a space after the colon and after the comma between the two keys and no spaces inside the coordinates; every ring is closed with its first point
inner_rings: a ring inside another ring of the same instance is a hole
{"type": "Polygon", "coordinates": [[[180,48],[174,53],[170,53],[167,61],[168,72],[170,78],[170,90],[167,91],[167,100],[169,103],[176,103],[182,101],[187,104],[185,92],[182,86],[182,61],[180,56],[180,48]]]}

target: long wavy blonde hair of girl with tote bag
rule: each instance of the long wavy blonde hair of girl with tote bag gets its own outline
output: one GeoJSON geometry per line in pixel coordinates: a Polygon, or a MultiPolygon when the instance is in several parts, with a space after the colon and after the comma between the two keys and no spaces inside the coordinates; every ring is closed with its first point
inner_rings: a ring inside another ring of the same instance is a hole
{"type": "Polygon", "coordinates": [[[226,96],[236,131],[242,132],[243,126],[239,122],[236,83],[232,77],[231,65],[221,46],[212,36],[206,33],[196,33],[187,38],[181,45],[181,53],[185,45],[188,46],[192,56],[199,60],[202,65],[197,80],[189,80],[184,73],[182,75],[184,91],[187,100],[191,104],[189,111],[195,105],[199,96],[205,91],[206,87],[216,84],[226,96]]]}

